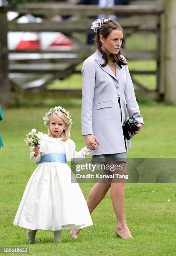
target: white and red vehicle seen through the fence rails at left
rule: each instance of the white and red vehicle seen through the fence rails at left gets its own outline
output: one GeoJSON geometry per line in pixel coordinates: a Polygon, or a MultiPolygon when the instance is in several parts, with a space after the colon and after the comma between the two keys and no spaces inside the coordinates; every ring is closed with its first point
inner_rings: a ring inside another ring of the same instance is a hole
{"type": "MultiPolygon", "coordinates": [[[[8,21],[13,20],[18,17],[17,12],[8,12],[7,13],[8,21]]],[[[30,23],[42,22],[41,18],[36,18],[31,14],[26,14],[16,21],[17,23],[30,23]]],[[[13,62],[10,64],[10,69],[41,69],[46,70],[46,74],[41,72],[41,74],[31,73],[10,73],[9,78],[15,83],[20,84],[23,88],[30,87],[40,87],[42,84],[47,82],[47,80],[53,77],[52,74],[48,74],[48,70],[56,69],[60,70],[61,65],[63,68],[66,67],[64,63],[26,63],[21,64],[20,60],[37,60],[37,59],[73,59],[76,58],[76,54],[71,53],[33,53],[33,50],[47,50],[47,51],[69,51],[72,49],[71,40],[66,37],[63,33],[60,32],[8,32],[8,49],[9,50],[18,50],[18,53],[10,53],[8,55],[9,60],[13,62]],[[27,50],[28,53],[20,53],[20,50],[27,50]],[[30,53],[31,51],[31,53],[30,53]],[[19,61],[15,63],[14,61],[19,61]]],[[[64,62],[64,61],[63,61],[64,62]]],[[[68,65],[68,64],[67,64],[68,65]]],[[[52,72],[51,72],[52,73],[52,72]]]]}

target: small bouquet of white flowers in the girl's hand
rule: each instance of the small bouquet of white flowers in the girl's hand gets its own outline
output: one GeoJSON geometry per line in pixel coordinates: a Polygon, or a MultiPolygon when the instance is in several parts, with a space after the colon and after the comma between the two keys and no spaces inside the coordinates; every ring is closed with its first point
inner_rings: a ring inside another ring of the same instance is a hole
{"type": "Polygon", "coordinates": [[[32,129],[30,133],[26,134],[24,141],[28,147],[31,147],[30,150],[33,150],[36,146],[40,145],[42,135],[43,133],[37,133],[36,129],[32,129]]]}

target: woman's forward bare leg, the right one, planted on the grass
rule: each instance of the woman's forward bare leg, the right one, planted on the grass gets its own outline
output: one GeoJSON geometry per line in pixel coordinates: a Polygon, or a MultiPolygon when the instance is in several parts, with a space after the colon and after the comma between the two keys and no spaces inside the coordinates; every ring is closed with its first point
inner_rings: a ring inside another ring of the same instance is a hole
{"type": "MultiPolygon", "coordinates": [[[[119,164],[120,163],[118,162],[118,165],[119,164]]],[[[122,171],[118,171],[116,173],[119,173],[121,175],[126,175],[127,174],[126,164],[123,164],[122,171]]],[[[122,180],[122,179],[112,180],[110,197],[112,200],[112,205],[115,211],[115,215],[117,217],[117,226],[115,228],[115,233],[117,236],[120,236],[121,238],[133,238],[125,220],[124,195],[125,195],[125,180],[122,180]]]]}

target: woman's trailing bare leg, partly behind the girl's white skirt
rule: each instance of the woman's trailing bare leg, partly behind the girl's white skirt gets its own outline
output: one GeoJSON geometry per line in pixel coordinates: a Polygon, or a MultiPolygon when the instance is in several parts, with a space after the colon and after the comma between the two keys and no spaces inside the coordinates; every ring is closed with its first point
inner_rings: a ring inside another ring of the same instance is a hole
{"type": "MultiPolygon", "coordinates": [[[[92,187],[87,199],[87,206],[89,208],[90,214],[105,197],[110,186],[110,183],[96,183],[94,187],[92,187]]],[[[70,236],[74,239],[77,239],[77,235],[80,230],[81,229],[72,229],[70,231],[70,236]]]]}

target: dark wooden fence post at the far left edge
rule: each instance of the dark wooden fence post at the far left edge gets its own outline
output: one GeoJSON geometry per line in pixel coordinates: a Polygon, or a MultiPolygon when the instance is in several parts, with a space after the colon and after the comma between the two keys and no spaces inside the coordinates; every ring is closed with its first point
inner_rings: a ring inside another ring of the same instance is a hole
{"type": "Polygon", "coordinates": [[[5,107],[10,101],[8,80],[7,11],[0,7],[0,104],[5,107]]]}

